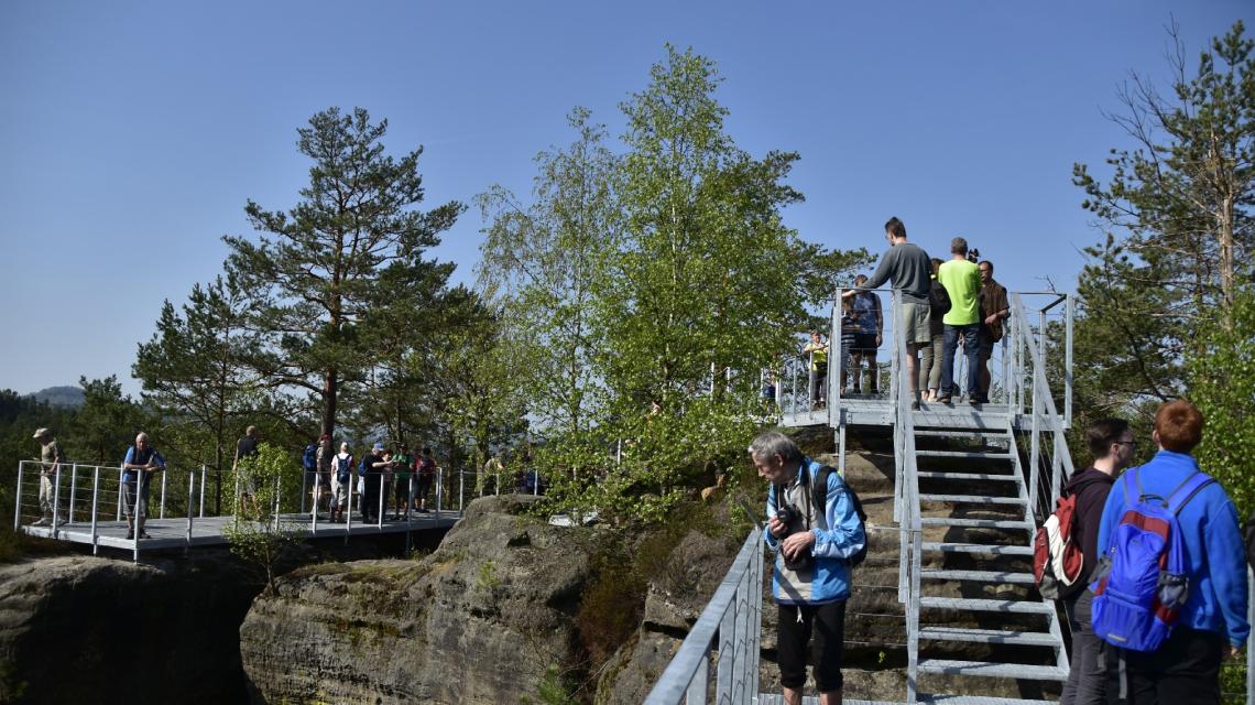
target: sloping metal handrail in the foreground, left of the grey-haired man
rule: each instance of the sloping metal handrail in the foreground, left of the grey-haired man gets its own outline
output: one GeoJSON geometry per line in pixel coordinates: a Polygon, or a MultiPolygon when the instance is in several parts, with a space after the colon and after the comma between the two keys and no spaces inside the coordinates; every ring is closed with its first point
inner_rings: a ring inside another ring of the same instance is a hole
{"type": "Polygon", "coordinates": [[[718,636],[719,702],[749,705],[758,697],[758,643],[763,606],[763,529],[745,537],[732,568],[702,611],[646,705],[705,702],[710,653],[718,636]]]}

